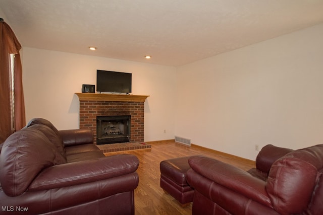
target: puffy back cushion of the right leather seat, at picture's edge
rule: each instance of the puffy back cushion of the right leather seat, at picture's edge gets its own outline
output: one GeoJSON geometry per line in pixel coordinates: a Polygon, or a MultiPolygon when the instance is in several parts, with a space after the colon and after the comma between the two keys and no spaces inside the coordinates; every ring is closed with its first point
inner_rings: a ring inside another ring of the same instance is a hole
{"type": "Polygon", "coordinates": [[[310,204],[323,167],[323,145],[288,153],[268,174],[266,190],[280,214],[302,214],[310,204]]]}

